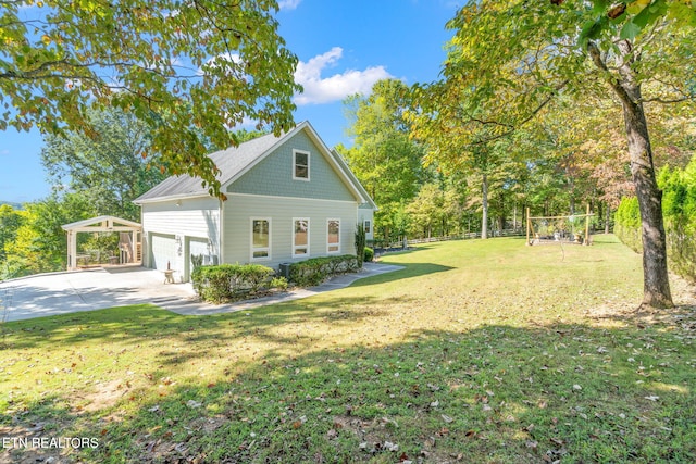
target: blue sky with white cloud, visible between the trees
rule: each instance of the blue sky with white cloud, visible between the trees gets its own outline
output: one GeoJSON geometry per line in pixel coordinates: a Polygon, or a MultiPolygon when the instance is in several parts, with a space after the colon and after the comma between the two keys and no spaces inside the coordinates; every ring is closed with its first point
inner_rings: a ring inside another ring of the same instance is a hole
{"type": "MultiPolygon", "coordinates": [[[[407,85],[438,78],[445,24],[464,0],[281,0],[279,34],[299,64],[295,121],[309,121],[328,147],[350,146],[343,100],[369,95],[380,79],[407,85]]],[[[50,193],[37,130],[0,131],[0,201],[32,202],[50,193]]]]}

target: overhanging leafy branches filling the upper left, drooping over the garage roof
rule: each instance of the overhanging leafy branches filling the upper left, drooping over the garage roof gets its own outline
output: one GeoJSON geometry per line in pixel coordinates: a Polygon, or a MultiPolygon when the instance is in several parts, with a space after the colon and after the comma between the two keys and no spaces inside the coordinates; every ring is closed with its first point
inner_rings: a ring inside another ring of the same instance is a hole
{"type": "Polygon", "coordinates": [[[297,58],[273,0],[0,0],[0,130],[97,135],[88,109],[147,124],[149,153],[219,195],[206,140],[226,148],[246,118],[293,125],[297,58]]]}

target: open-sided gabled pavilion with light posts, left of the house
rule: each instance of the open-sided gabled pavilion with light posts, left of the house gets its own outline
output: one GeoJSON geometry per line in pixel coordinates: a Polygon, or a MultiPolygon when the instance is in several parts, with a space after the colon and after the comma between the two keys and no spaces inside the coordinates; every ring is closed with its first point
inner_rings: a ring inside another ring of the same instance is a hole
{"type": "Polygon", "coordinates": [[[130,252],[128,253],[128,262],[135,263],[140,260],[142,225],[139,223],[122,220],[121,217],[115,216],[98,216],[72,224],[65,224],[62,228],[67,233],[67,271],[77,269],[77,260],[84,258],[83,255],[77,254],[78,233],[129,233],[129,240],[127,242],[122,242],[121,244],[126,247],[129,243],[132,247],[129,250],[130,252]]]}

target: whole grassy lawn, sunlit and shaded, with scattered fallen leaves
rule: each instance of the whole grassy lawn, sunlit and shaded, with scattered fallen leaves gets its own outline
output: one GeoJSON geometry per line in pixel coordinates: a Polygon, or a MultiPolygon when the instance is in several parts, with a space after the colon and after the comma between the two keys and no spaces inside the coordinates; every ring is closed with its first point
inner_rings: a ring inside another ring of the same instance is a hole
{"type": "Polygon", "coordinates": [[[641,258],[613,237],[383,262],[405,269],[248,312],[5,324],[0,436],[99,447],[0,461],[696,461],[694,310],[633,314],[641,258]]]}

